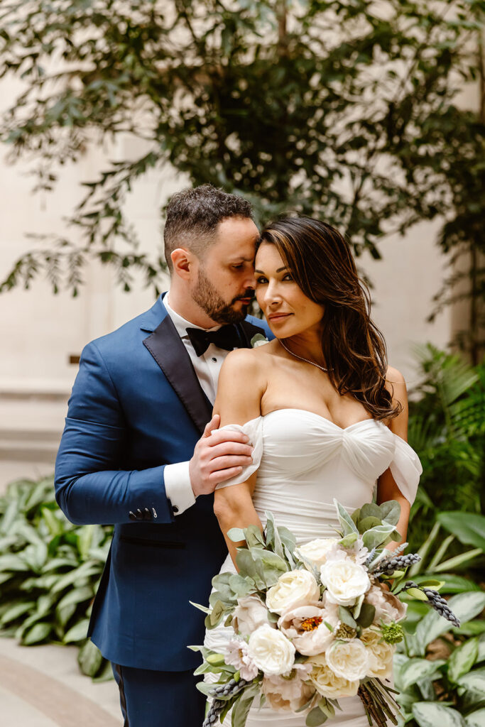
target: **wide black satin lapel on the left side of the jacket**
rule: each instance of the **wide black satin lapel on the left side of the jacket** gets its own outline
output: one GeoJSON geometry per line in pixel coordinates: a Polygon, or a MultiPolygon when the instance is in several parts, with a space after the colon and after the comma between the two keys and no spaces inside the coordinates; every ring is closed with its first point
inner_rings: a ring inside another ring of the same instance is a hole
{"type": "Polygon", "coordinates": [[[159,364],[187,409],[189,417],[202,433],[212,417],[212,404],[201,389],[191,358],[172,323],[172,318],[165,316],[151,336],[145,338],[143,345],[159,364]]]}

